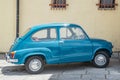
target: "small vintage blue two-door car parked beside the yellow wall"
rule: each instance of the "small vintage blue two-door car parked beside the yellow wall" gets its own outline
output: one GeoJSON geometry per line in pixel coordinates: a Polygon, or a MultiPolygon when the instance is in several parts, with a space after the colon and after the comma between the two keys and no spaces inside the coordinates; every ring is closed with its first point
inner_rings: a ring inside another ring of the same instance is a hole
{"type": "Polygon", "coordinates": [[[34,26],[17,38],[6,54],[7,62],[24,64],[28,73],[43,71],[46,64],[92,62],[103,68],[109,64],[112,44],[89,38],[81,26],[51,23],[34,26]]]}

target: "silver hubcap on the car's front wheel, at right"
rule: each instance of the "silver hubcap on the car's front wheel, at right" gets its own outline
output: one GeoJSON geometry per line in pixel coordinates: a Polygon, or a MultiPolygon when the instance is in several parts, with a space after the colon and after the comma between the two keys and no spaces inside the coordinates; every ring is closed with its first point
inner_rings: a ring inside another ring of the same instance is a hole
{"type": "Polygon", "coordinates": [[[95,63],[99,66],[105,65],[106,64],[106,57],[102,54],[98,54],[95,57],[95,63]]]}

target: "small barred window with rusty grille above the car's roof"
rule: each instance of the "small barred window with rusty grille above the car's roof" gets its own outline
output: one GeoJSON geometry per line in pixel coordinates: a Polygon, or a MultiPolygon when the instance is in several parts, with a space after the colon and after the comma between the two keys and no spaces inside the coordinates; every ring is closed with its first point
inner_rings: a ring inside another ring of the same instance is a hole
{"type": "Polygon", "coordinates": [[[66,8],[66,0],[51,0],[51,8],[66,8]]]}

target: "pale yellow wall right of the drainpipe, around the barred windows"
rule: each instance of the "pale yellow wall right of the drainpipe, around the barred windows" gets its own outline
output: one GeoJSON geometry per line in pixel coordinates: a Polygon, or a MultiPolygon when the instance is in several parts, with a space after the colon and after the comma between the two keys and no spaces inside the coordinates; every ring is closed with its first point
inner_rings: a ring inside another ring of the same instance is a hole
{"type": "MultiPolygon", "coordinates": [[[[66,10],[51,10],[50,0],[21,0],[21,32],[43,23],[67,22],[81,25],[90,37],[109,40],[120,50],[120,6],[98,10],[99,0],[67,0],[66,10]]],[[[120,0],[116,0],[120,5],[120,0]]]]}

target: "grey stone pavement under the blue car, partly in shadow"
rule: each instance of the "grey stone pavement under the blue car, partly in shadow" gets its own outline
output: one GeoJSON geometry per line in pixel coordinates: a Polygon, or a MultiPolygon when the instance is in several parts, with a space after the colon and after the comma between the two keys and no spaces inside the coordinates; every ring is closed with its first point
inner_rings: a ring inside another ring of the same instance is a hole
{"type": "Polygon", "coordinates": [[[120,55],[114,53],[106,68],[72,63],[47,65],[40,74],[28,74],[24,65],[7,63],[0,54],[0,80],[120,80],[120,55]]]}

